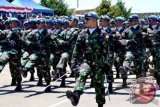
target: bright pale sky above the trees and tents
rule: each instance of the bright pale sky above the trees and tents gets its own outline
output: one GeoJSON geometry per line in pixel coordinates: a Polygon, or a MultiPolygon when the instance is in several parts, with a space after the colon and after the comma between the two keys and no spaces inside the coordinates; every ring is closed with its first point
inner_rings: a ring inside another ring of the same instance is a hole
{"type": "MultiPolygon", "coordinates": [[[[40,2],[40,0],[34,0],[40,2]]],[[[64,0],[69,8],[76,8],[77,0],[64,0]]],[[[116,3],[117,0],[112,0],[112,5],[116,3]]],[[[132,7],[132,12],[160,12],[160,0],[122,0],[125,2],[127,8],[132,7]]],[[[95,8],[100,4],[101,0],[79,0],[79,8],[88,9],[95,8]]]]}

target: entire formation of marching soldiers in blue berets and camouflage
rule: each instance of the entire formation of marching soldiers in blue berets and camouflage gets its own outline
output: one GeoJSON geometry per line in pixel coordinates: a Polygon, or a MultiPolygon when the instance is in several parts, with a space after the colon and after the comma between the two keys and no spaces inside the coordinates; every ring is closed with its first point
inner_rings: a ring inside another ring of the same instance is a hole
{"type": "Polygon", "coordinates": [[[35,68],[38,86],[45,79],[51,91],[53,80],[62,77],[60,87],[65,87],[66,68],[72,70],[76,79],[74,91],[66,96],[76,106],[85,88],[87,77],[91,77],[91,87],[95,87],[98,107],[105,104],[104,75],[107,75],[108,91],[113,92],[112,67],[116,78],[123,79],[122,87],[127,87],[128,72],[136,77],[145,77],[149,68],[160,84],[160,30],[159,17],[151,15],[139,19],[131,15],[128,19],[118,16],[110,19],[88,12],[84,17],[65,19],[34,18],[23,25],[17,18],[9,18],[1,23],[0,30],[0,71],[9,63],[15,91],[21,91],[22,76],[31,73],[34,81],[35,68]],[[51,71],[51,72],[50,72],[51,71]],[[22,76],[21,76],[22,75],[22,76]]]}

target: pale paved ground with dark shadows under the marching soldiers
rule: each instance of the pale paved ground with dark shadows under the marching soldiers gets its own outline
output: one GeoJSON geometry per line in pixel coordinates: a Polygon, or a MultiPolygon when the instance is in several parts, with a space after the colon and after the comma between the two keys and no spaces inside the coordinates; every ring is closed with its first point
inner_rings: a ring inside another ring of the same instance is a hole
{"type": "MultiPolygon", "coordinates": [[[[130,75],[128,82],[131,83],[133,79],[135,79],[135,75],[130,75]]],[[[65,92],[68,89],[73,90],[75,85],[74,78],[67,79],[67,87],[65,88],[58,87],[59,81],[52,83],[54,85],[52,92],[45,93],[45,85],[36,86],[37,76],[35,81],[30,82],[28,75],[27,78],[23,78],[23,91],[15,92],[15,86],[10,86],[11,76],[7,65],[0,74],[0,81],[0,107],[73,107],[67,99],[65,92]]],[[[97,107],[94,88],[89,87],[89,81],[90,79],[87,80],[86,90],[81,96],[77,107],[97,107]]],[[[110,96],[106,95],[104,107],[160,107],[159,91],[156,91],[154,100],[148,104],[131,104],[129,100],[130,88],[122,89],[121,83],[121,79],[115,79],[113,85],[114,93],[110,94],[110,96]]]]}

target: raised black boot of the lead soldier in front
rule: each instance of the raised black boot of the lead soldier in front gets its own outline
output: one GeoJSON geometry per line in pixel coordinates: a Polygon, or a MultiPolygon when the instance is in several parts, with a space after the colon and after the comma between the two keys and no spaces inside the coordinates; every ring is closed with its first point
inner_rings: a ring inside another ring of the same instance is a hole
{"type": "Polygon", "coordinates": [[[72,92],[72,91],[68,90],[66,92],[66,96],[69,100],[71,100],[71,103],[72,103],[73,106],[77,106],[81,94],[82,94],[82,91],[72,92]]]}

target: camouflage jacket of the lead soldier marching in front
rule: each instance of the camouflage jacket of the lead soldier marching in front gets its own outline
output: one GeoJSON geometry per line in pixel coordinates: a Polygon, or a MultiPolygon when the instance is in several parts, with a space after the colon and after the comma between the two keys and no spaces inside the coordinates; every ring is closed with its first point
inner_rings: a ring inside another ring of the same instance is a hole
{"type": "Polygon", "coordinates": [[[79,61],[90,65],[104,66],[108,63],[108,35],[97,27],[92,34],[88,29],[82,30],[77,38],[71,63],[79,61]]]}

